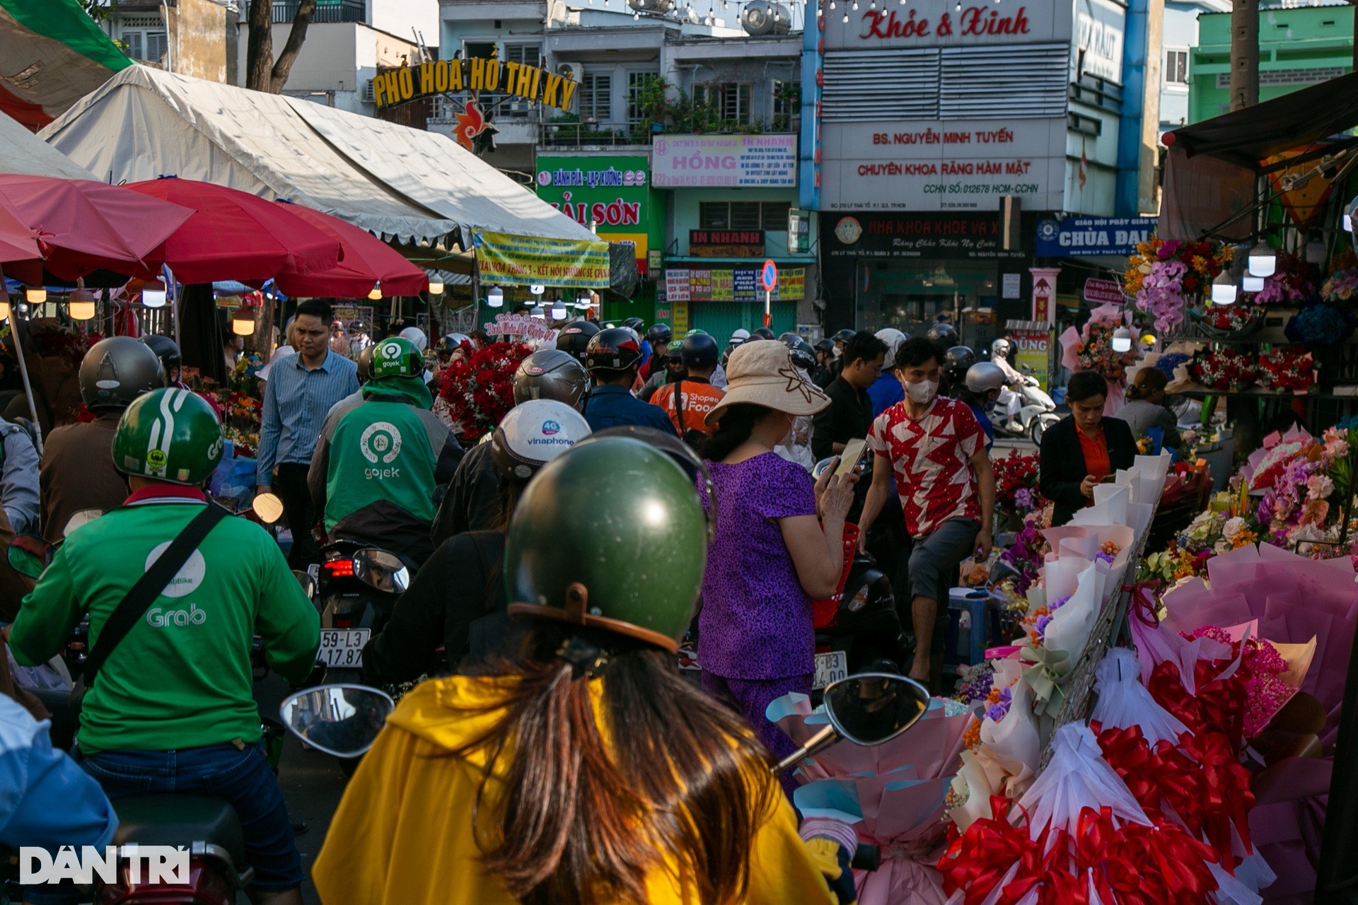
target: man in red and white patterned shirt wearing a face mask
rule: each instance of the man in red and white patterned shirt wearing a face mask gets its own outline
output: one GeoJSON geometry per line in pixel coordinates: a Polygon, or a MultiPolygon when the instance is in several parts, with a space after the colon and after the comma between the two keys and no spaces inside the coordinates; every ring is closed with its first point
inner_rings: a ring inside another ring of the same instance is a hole
{"type": "Polygon", "coordinates": [[[938,396],[938,350],[929,339],[907,339],[894,369],[906,398],[872,422],[868,445],[876,453],[872,487],[860,520],[860,543],[881,512],[891,478],[914,539],[910,554],[910,609],[915,659],[910,677],[937,684],[942,669],[942,619],[957,564],[990,555],[995,476],[986,434],[964,403],[938,396]]]}

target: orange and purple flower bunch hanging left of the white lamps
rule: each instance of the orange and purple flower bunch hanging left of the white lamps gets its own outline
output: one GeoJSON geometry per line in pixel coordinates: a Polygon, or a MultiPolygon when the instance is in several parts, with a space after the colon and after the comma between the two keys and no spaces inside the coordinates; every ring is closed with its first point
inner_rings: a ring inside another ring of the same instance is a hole
{"type": "Polygon", "coordinates": [[[1183,322],[1191,300],[1211,285],[1230,256],[1230,246],[1210,242],[1142,242],[1128,261],[1123,288],[1139,311],[1156,319],[1156,330],[1169,330],[1183,322]]]}

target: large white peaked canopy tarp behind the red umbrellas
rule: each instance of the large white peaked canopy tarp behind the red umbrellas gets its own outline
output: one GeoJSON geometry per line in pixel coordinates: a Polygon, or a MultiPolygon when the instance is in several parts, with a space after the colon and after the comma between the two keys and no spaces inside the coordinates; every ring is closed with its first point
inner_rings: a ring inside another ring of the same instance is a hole
{"type": "Polygon", "coordinates": [[[405,243],[460,229],[598,242],[452,138],[311,100],[129,66],[41,133],[100,179],[201,179],[405,243]]]}

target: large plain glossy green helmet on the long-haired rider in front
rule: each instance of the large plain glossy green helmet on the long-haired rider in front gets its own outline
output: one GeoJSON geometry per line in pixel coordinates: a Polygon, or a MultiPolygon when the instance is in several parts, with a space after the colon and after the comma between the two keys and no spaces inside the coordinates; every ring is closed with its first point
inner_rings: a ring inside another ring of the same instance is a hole
{"type": "Polygon", "coordinates": [[[664,452],[610,437],[561,453],[505,539],[509,612],[679,649],[708,559],[693,482],[664,452]]]}

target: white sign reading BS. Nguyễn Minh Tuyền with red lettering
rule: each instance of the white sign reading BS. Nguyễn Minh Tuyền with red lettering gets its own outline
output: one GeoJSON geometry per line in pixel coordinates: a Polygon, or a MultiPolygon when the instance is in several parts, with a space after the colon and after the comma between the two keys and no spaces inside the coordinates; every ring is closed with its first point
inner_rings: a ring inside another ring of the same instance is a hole
{"type": "Polygon", "coordinates": [[[1025,209],[1059,209],[1065,141],[1065,118],[826,122],[822,205],[997,210],[1016,195],[1025,209]]]}

